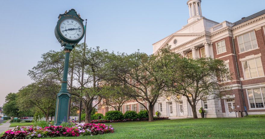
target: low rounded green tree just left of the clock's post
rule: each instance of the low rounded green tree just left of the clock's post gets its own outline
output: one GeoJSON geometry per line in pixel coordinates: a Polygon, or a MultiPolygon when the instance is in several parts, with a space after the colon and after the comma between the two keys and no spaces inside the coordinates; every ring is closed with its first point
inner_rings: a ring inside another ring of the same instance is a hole
{"type": "Polygon", "coordinates": [[[18,105],[20,109],[35,106],[45,115],[46,121],[55,111],[56,94],[60,86],[49,81],[39,81],[22,87],[18,92],[18,105]]]}

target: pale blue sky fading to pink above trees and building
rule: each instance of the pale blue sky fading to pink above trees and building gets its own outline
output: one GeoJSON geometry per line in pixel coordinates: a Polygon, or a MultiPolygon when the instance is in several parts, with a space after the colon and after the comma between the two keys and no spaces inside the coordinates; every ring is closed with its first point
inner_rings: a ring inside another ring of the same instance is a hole
{"type": "MultiPolygon", "coordinates": [[[[152,53],[152,44],[187,24],[187,0],[0,0],[0,106],[5,96],[32,81],[28,70],[41,55],[60,50],[58,15],[75,9],[88,19],[86,43],[110,52],[152,53]]],[[[264,10],[264,0],[202,0],[202,15],[235,22],[264,10]]],[[[85,24],[85,22],[84,22],[85,24]]],[[[83,42],[83,40],[81,41],[83,42]]]]}

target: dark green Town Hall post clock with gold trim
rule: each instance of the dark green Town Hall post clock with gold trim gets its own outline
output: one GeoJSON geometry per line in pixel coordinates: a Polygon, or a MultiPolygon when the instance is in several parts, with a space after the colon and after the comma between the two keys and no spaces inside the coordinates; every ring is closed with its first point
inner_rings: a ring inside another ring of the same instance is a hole
{"type": "Polygon", "coordinates": [[[64,14],[60,14],[58,22],[55,27],[55,37],[64,47],[65,59],[64,59],[64,73],[61,81],[61,90],[56,95],[56,108],[55,108],[55,126],[60,126],[62,122],[68,122],[70,111],[70,97],[71,95],[67,90],[67,75],[70,52],[76,46],[77,43],[84,37],[84,25],[83,19],[76,13],[74,9],[65,11],[64,14]]]}

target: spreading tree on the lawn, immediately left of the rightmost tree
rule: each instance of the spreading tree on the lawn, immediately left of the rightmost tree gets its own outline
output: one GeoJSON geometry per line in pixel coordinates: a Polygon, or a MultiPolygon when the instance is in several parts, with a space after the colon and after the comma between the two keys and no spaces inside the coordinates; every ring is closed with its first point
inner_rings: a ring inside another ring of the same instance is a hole
{"type": "Polygon", "coordinates": [[[157,99],[163,95],[165,89],[164,77],[161,74],[168,63],[170,55],[166,49],[161,49],[156,55],[147,55],[141,52],[133,54],[112,53],[110,60],[105,64],[105,81],[120,83],[134,88],[135,91],[124,92],[138,103],[148,102],[149,121],[153,121],[153,110],[157,99]]]}

